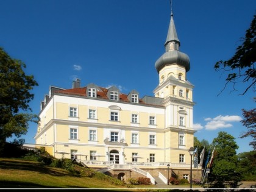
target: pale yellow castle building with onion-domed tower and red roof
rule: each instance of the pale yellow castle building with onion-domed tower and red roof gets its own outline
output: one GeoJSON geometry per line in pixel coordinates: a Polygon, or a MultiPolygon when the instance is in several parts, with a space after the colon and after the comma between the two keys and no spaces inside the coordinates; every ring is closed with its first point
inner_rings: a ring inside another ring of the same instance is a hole
{"type": "Polygon", "coordinates": [[[70,89],[50,87],[41,102],[36,145],[119,179],[144,176],[153,184],[173,175],[189,179],[194,85],[186,78],[190,59],[179,46],[171,14],[165,53],[155,62],[154,96],[81,87],[80,79],[70,89]]]}

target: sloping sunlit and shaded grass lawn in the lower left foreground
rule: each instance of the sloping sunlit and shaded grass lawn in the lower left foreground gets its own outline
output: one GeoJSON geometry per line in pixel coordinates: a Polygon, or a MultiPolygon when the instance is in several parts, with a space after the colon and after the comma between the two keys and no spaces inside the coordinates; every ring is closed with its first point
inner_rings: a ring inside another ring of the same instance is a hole
{"type": "Polygon", "coordinates": [[[71,174],[65,169],[11,158],[0,158],[0,188],[124,188],[71,174]]]}

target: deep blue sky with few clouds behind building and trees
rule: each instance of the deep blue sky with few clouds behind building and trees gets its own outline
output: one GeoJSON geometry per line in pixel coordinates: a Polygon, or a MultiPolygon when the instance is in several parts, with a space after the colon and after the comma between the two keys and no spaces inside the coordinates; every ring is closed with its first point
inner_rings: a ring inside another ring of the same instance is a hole
{"type": "MultiPolygon", "coordinates": [[[[251,90],[245,96],[227,87],[213,66],[235,53],[255,15],[256,1],[173,0],[172,10],[180,51],[190,57],[187,79],[195,85],[194,124],[199,139],[212,143],[219,131],[236,138],[237,152],[251,151],[241,109],[255,107],[251,90]]],[[[155,61],[165,52],[171,8],[168,0],[0,0],[0,46],[26,63],[33,74],[34,113],[49,86],[118,86],[153,96],[158,84],[155,61]]],[[[30,124],[26,143],[35,143],[37,124],[30,124]]]]}

